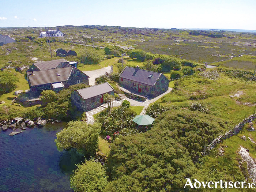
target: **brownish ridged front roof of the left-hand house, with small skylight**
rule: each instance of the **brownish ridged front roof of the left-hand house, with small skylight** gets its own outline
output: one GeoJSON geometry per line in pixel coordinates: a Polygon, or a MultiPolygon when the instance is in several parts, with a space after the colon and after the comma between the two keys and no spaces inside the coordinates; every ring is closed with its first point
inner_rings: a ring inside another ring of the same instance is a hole
{"type": "Polygon", "coordinates": [[[34,71],[33,75],[30,75],[32,72],[28,72],[27,74],[29,76],[31,86],[36,86],[48,83],[64,82],[68,80],[72,71],[75,71],[73,69],[74,67],[66,67],[45,71],[34,71]],[[60,74],[60,76],[57,74],[60,74]]]}

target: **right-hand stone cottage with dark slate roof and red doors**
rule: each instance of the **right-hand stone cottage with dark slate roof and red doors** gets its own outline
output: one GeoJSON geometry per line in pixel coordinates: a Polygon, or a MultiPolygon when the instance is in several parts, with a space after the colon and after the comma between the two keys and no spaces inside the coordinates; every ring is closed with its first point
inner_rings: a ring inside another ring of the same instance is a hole
{"type": "Polygon", "coordinates": [[[119,76],[119,84],[147,97],[157,97],[169,88],[169,80],[162,74],[140,67],[125,67],[119,76]]]}

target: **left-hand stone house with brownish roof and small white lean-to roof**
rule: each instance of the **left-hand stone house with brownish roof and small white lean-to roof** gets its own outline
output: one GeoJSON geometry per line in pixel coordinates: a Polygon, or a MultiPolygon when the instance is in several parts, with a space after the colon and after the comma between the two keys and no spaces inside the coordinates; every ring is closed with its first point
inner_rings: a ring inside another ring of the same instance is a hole
{"type": "Polygon", "coordinates": [[[64,68],[27,72],[27,76],[30,91],[51,89],[59,92],[64,87],[78,83],[89,85],[89,76],[71,65],[64,68]]]}

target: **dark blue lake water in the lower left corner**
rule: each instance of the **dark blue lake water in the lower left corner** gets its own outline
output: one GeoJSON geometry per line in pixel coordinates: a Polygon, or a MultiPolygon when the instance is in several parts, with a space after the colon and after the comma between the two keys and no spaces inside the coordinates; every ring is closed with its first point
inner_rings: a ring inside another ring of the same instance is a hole
{"type": "Polygon", "coordinates": [[[46,124],[14,136],[9,136],[11,129],[0,130],[1,192],[72,192],[69,176],[84,157],[57,150],[54,139],[64,127],[65,123],[46,124]]]}

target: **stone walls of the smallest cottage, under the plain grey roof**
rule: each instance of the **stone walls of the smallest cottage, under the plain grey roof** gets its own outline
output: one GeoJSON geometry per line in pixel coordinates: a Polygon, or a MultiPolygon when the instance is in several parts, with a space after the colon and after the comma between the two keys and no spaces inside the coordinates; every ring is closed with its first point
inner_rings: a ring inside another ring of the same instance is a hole
{"type": "MultiPolygon", "coordinates": [[[[110,91],[108,92],[108,94],[114,95],[114,91],[110,91]]],[[[89,99],[83,99],[82,96],[78,93],[78,91],[74,91],[71,94],[71,101],[77,109],[79,109],[82,112],[85,112],[100,106],[102,104],[101,97],[103,97],[103,94],[91,97],[89,99]]]]}

